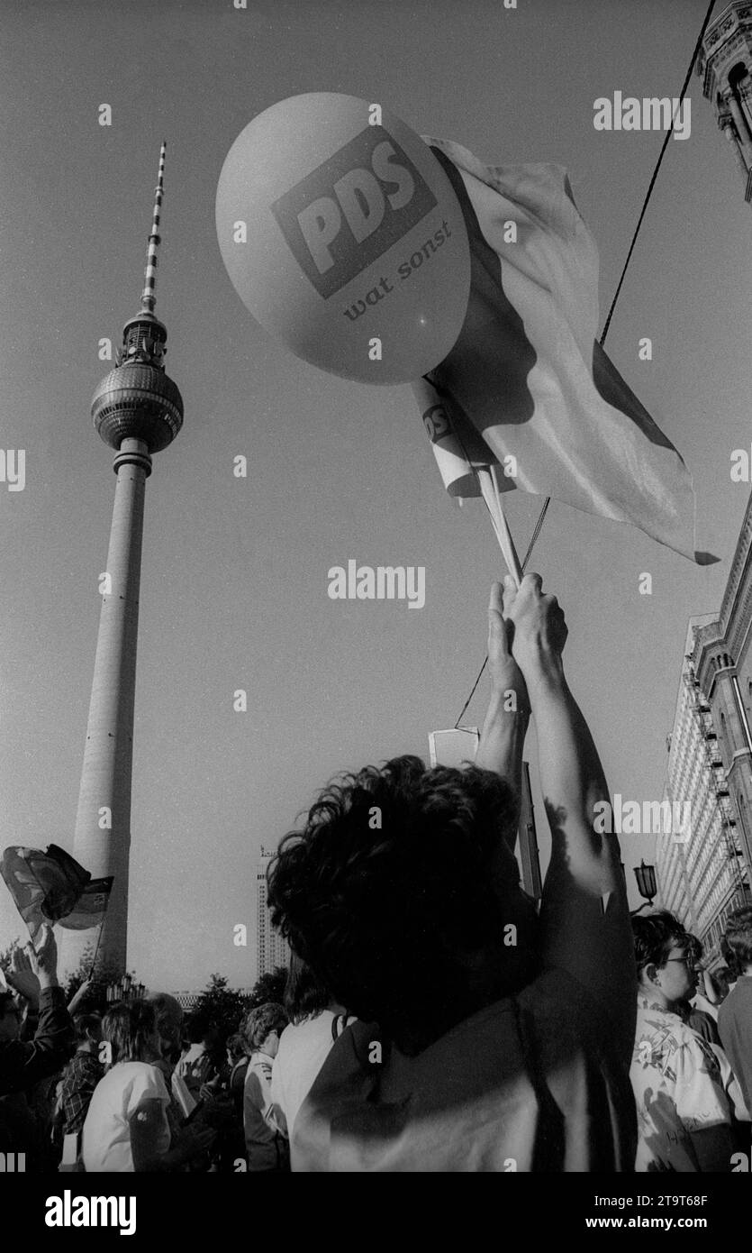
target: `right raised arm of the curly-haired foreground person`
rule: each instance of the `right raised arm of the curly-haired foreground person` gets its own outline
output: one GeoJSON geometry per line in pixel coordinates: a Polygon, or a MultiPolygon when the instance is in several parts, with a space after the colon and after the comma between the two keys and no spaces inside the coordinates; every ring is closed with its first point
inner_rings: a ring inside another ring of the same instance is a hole
{"type": "Polygon", "coordinates": [[[537,574],[526,575],[517,593],[507,585],[504,605],[531,698],[552,838],[541,911],[543,965],[579,980],[619,1029],[622,1046],[631,1048],[636,971],[619,843],[596,828],[593,808],[609,797],[593,738],[564,678],[564,615],[556,598],[543,594],[537,574]]]}

